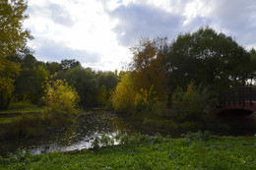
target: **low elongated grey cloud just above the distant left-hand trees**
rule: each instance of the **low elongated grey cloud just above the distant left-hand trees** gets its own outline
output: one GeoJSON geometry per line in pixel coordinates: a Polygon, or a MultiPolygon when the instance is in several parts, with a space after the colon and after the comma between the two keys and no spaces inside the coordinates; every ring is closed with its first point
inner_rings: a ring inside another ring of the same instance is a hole
{"type": "Polygon", "coordinates": [[[37,45],[35,56],[39,60],[60,62],[62,59],[76,59],[81,63],[97,63],[99,61],[99,55],[85,50],[73,49],[63,42],[38,37],[33,41],[37,45]]]}

